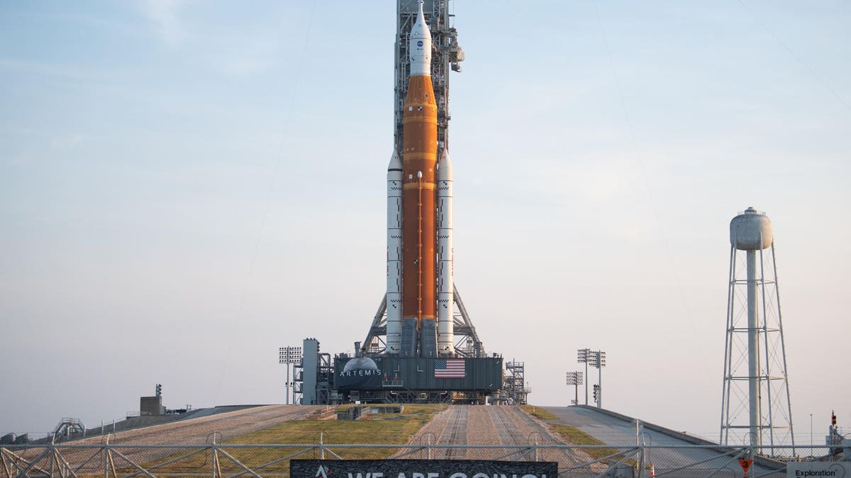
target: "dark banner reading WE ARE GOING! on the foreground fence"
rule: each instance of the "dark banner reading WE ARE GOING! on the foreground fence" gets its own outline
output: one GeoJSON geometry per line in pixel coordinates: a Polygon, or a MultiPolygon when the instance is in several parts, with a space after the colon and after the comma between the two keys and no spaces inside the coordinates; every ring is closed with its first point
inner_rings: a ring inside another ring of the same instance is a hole
{"type": "MultiPolygon", "coordinates": [[[[556,462],[494,460],[290,460],[289,478],[558,478],[556,462]]],[[[851,477],[849,477],[851,478],[851,477]]]]}

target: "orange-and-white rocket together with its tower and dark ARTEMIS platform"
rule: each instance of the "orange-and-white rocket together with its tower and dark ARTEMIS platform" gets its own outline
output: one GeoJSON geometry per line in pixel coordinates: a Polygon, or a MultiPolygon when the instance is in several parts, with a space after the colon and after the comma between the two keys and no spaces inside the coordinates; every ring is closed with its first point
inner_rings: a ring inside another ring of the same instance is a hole
{"type": "Polygon", "coordinates": [[[502,357],[485,354],[454,285],[448,72],[464,54],[448,3],[397,0],[386,293],[355,356],[334,359],[342,401],[505,401],[502,357]]]}

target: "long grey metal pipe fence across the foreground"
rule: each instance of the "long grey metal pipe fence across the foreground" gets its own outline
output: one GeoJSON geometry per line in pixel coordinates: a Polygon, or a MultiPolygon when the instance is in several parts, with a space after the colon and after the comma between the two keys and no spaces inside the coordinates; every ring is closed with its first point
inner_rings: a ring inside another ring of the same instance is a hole
{"type": "MultiPolygon", "coordinates": [[[[808,447],[808,452],[810,448],[808,447]]],[[[787,454],[792,456],[791,449],[787,454]]],[[[827,457],[828,447],[814,454],[827,457]]],[[[290,459],[476,459],[554,461],[559,477],[786,476],[784,460],[754,456],[748,447],[526,445],[20,445],[0,448],[0,478],[83,476],[289,476],[290,459]]],[[[827,458],[809,458],[827,459],[827,458]]],[[[796,460],[800,461],[799,458],[796,460]]],[[[311,477],[312,478],[312,477],[311,477]]],[[[336,477],[345,478],[345,477],[336,477]]],[[[496,478],[502,478],[496,477],[496,478]]],[[[511,477],[509,477],[511,478],[511,477]]]]}

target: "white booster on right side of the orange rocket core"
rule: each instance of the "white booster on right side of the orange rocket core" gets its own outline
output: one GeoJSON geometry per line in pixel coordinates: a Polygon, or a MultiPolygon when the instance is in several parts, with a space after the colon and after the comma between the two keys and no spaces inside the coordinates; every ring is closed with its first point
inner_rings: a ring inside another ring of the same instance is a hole
{"type": "Polygon", "coordinates": [[[437,165],[437,353],[454,355],[452,162],[449,153],[437,165]]]}

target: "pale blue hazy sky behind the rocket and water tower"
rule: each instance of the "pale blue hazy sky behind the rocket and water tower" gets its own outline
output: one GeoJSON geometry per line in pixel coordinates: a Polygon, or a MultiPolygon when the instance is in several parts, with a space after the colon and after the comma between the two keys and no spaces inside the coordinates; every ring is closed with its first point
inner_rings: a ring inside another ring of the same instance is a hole
{"type": "MultiPolygon", "coordinates": [[[[567,405],[603,350],[605,407],[717,438],[752,206],[797,442],[849,426],[851,3],[451,3],[455,283],[529,401],[567,405]]],[[[0,433],[110,423],[155,384],[283,403],[278,347],[364,339],[395,26],[393,2],[0,6],[0,433]]]]}

